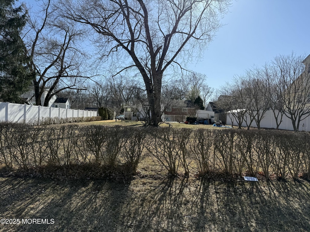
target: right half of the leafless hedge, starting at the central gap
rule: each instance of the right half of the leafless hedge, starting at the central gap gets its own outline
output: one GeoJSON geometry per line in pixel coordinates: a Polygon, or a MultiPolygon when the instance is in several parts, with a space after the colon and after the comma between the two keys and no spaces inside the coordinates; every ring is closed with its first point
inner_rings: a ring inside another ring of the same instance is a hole
{"type": "Polygon", "coordinates": [[[181,165],[186,175],[192,169],[199,176],[310,178],[307,132],[168,128],[153,132],[148,144],[148,151],[173,175],[181,165]]]}

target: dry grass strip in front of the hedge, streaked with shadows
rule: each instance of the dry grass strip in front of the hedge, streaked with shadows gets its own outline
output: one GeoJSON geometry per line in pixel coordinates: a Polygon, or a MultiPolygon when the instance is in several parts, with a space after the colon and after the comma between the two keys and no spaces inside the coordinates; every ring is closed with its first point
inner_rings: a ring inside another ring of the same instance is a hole
{"type": "Polygon", "coordinates": [[[309,231],[305,181],[0,178],[1,218],[53,218],[0,231],[309,231]]]}

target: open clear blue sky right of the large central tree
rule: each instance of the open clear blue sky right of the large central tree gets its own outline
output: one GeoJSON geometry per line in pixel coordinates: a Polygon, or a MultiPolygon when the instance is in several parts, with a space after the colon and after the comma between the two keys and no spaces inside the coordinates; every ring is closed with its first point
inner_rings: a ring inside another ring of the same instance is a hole
{"type": "Polygon", "coordinates": [[[218,88],[247,68],[281,54],[310,54],[309,0],[232,1],[203,61],[189,68],[207,75],[208,85],[218,88]]]}

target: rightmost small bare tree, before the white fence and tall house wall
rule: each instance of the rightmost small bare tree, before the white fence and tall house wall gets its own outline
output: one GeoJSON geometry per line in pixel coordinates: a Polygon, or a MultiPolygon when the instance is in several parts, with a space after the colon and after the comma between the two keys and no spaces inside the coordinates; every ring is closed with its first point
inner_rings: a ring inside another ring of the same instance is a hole
{"type": "Polygon", "coordinates": [[[283,103],[284,114],[292,121],[294,131],[299,130],[300,121],[310,114],[309,63],[303,59],[303,56],[292,52],[279,55],[272,62],[279,100],[283,103]]]}

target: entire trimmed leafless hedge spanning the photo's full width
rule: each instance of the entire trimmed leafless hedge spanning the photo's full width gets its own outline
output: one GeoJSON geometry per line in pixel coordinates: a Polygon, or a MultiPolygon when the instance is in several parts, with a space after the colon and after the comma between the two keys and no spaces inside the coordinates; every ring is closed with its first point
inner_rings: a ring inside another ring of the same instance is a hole
{"type": "Polygon", "coordinates": [[[139,162],[151,154],[171,175],[182,170],[210,173],[291,176],[310,179],[310,134],[274,130],[215,130],[29,126],[0,123],[0,164],[28,170],[44,165],[100,164],[136,174],[139,162]]]}

